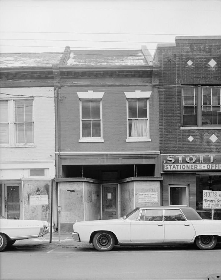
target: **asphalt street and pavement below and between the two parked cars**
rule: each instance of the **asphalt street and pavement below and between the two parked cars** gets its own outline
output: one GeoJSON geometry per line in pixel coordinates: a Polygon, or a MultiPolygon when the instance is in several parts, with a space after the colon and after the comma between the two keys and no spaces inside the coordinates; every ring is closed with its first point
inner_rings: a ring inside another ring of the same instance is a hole
{"type": "Polygon", "coordinates": [[[71,234],[53,233],[18,240],[0,254],[1,280],[110,280],[110,279],[217,279],[221,278],[221,246],[214,250],[194,247],[120,247],[98,252],[71,234]]]}

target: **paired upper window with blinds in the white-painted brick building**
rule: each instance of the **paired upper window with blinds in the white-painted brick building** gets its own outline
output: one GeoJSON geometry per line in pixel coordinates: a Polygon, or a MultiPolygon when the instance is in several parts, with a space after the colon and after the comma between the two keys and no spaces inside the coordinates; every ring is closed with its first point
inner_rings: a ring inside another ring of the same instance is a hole
{"type": "Polygon", "coordinates": [[[33,100],[0,101],[0,139],[6,146],[34,143],[33,100]]]}

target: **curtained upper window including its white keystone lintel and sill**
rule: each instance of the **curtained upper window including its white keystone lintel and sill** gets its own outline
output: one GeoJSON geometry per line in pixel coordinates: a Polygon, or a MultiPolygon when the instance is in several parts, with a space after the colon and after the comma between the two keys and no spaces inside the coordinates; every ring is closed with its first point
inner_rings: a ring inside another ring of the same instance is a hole
{"type": "Polygon", "coordinates": [[[149,97],[151,91],[125,92],[127,97],[126,142],[151,141],[149,136],[149,97]]]}

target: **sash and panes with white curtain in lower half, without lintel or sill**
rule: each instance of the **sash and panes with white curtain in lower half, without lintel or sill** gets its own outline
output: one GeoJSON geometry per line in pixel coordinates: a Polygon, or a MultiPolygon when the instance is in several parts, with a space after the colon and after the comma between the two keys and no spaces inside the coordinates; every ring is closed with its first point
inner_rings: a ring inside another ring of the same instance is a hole
{"type": "Polygon", "coordinates": [[[148,100],[131,99],[128,102],[128,137],[149,138],[148,100]]]}

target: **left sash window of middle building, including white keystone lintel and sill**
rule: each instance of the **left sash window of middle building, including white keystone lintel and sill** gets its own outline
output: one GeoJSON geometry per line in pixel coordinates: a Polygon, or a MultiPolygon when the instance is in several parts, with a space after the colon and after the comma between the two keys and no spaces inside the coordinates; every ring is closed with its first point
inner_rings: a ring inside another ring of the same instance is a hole
{"type": "Polygon", "coordinates": [[[77,92],[80,99],[79,142],[104,142],[102,135],[103,92],[77,92]]]}

